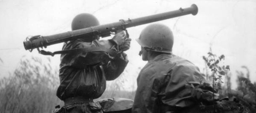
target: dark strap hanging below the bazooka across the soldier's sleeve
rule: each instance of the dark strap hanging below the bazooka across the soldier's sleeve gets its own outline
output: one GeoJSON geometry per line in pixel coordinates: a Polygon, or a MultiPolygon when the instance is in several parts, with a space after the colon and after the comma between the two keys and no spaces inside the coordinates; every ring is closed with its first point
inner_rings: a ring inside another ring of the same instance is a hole
{"type": "Polygon", "coordinates": [[[44,50],[38,50],[38,52],[42,55],[51,55],[54,56],[56,54],[66,54],[70,52],[107,52],[111,56],[115,57],[119,54],[119,52],[115,52],[111,49],[103,48],[103,47],[93,47],[93,48],[78,48],[78,49],[68,49],[68,50],[62,50],[62,51],[56,51],[56,52],[49,52],[44,50]]]}

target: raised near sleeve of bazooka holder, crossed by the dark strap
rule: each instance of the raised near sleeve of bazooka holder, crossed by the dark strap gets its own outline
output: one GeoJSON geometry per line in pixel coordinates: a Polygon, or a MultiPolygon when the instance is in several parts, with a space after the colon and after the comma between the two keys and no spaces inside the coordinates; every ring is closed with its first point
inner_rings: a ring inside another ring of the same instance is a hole
{"type": "MultiPolygon", "coordinates": [[[[98,41],[94,40],[91,43],[82,42],[82,41],[74,41],[65,45],[65,49],[79,49],[79,48],[106,48],[112,51],[118,52],[118,48],[111,41],[98,41]]],[[[86,68],[88,65],[96,65],[96,64],[108,64],[109,61],[114,58],[108,52],[72,52],[61,56],[64,61],[66,61],[70,66],[76,68],[86,68]]]]}

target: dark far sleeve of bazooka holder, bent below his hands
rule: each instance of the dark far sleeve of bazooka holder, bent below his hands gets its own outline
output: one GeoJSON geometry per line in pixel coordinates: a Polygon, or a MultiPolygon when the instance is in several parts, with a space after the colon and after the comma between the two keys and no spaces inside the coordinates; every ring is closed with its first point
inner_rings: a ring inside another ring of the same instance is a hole
{"type": "Polygon", "coordinates": [[[128,59],[124,52],[109,61],[108,64],[104,65],[106,80],[111,81],[116,79],[125,70],[127,64],[128,59]]]}

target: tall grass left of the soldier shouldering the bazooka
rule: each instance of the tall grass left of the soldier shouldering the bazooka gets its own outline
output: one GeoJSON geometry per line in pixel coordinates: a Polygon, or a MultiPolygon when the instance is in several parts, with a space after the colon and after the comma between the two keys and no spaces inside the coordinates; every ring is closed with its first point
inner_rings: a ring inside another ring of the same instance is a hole
{"type": "Polygon", "coordinates": [[[49,58],[23,58],[13,75],[0,80],[0,113],[51,113],[61,102],[57,86],[49,58]]]}

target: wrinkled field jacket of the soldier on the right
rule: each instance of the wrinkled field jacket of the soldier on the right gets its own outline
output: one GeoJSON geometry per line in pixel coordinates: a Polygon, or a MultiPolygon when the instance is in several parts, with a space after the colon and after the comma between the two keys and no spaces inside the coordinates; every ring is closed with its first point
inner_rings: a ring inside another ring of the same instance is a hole
{"type": "Polygon", "coordinates": [[[191,88],[206,82],[198,67],[176,55],[156,56],[140,71],[133,113],[164,113],[196,104],[191,88]]]}

